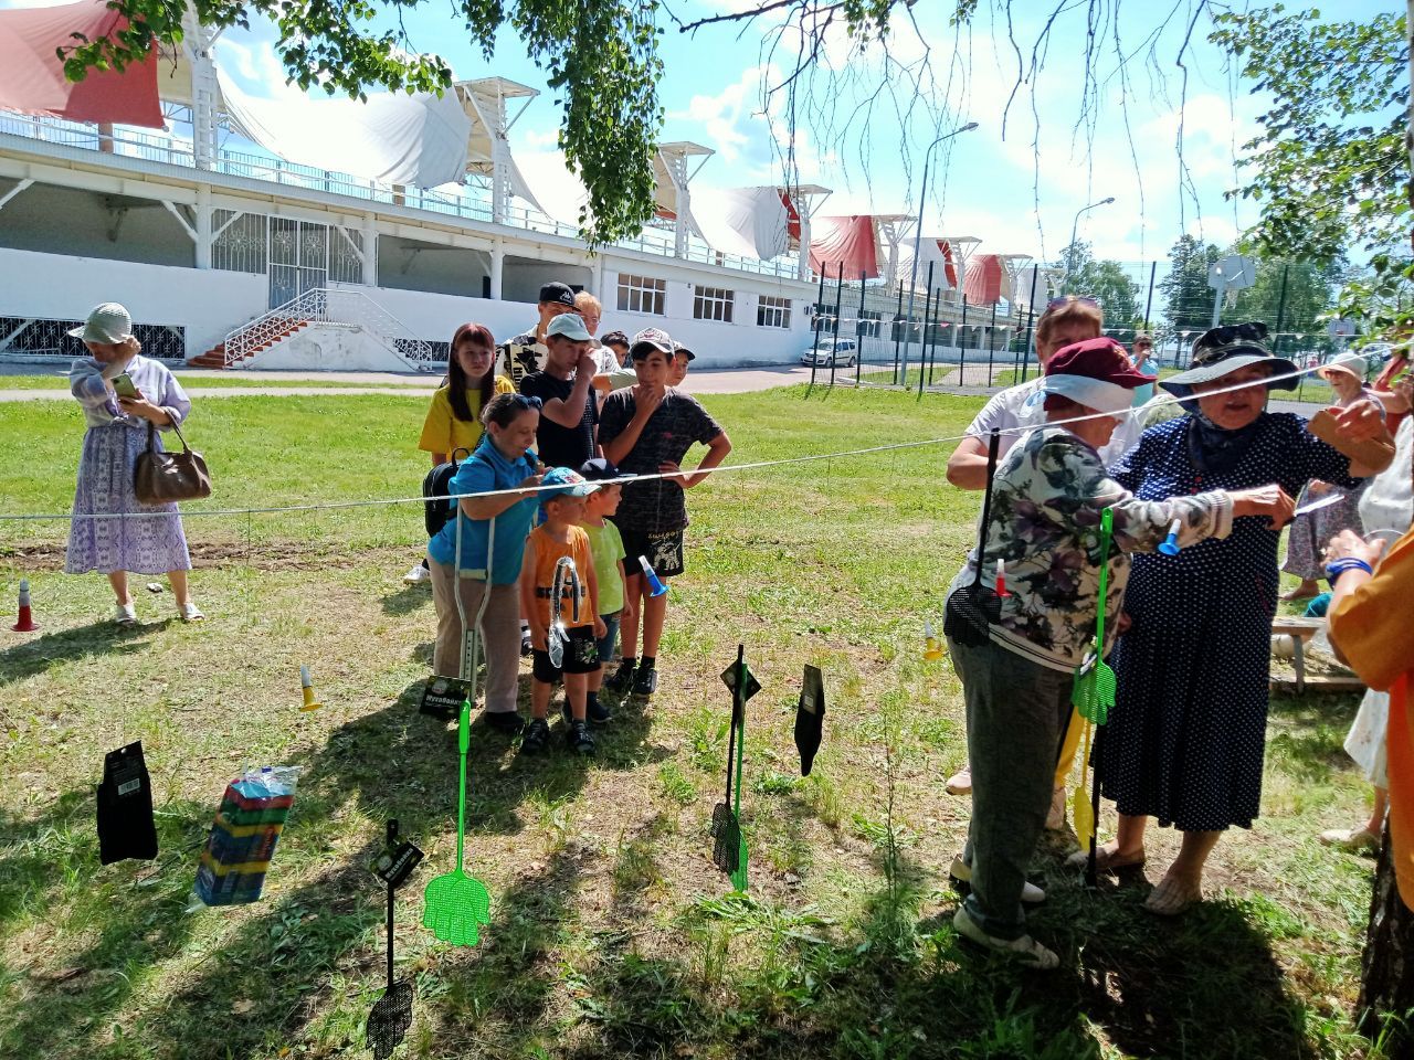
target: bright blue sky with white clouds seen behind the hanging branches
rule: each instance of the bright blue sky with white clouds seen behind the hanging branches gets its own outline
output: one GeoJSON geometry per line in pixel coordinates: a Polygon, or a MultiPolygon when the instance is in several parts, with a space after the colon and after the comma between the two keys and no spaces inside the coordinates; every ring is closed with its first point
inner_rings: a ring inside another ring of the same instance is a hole
{"type": "MultiPolygon", "coordinates": [[[[747,0],[667,1],[672,14],[684,23],[749,6],[747,0]]],[[[799,175],[834,188],[826,213],[915,213],[922,148],[939,131],[935,120],[945,131],[977,122],[977,130],[950,140],[937,153],[925,204],[926,235],[971,235],[983,239],[984,250],[1053,259],[1069,239],[1076,211],[1113,195],[1114,205],[1090,211],[1079,228],[1080,237],[1092,240],[1102,257],[1162,257],[1184,232],[1225,245],[1254,219],[1251,204],[1226,202],[1223,192],[1239,181],[1233,160],[1240,144],[1258,131],[1256,119],[1263,105],[1239,83],[1225,55],[1206,42],[1210,20],[1200,16],[1186,57],[1186,175],[1181,171],[1179,71],[1174,59],[1189,21],[1184,8],[1192,4],[1176,0],[1174,24],[1152,41],[1154,62],[1135,59],[1127,88],[1113,76],[1113,28],[1100,27],[1099,57],[1092,64],[1097,79],[1090,99],[1094,120],[1079,131],[1075,124],[1085,105],[1085,4],[1070,4],[1072,10],[1056,20],[1044,68],[1017,93],[1005,136],[1003,106],[1015,83],[1017,59],[1004,27],[994,24],[988,0],[983,0],[970,31],[946,24],[950,0],[925,0],[913,6],[918,31],[901,24],[887,47],[853,51],[843,33],[831,33],[824,68],[810,92],[816,100],[834,100],[836,124],[878,88],[884,54],[896,64],[916,64],[926,52],[935,107],[930,113],[916,107],[911,117],[901,119],[895,103],[885,100],[871,112],[867,134],[860,131],[860,122],[847,134],[837,129],[831,134],[806,116],[795,141],[799,175]],[[1181,192],[1185,185],[1189,189],[1181,192]]],[[[0,6],[17,4],[0,0],[0,6]]],[[[1027,58],[1041,20],[1055,6],[1055,0],[1015,4],[1014,33],[1027,58]]],[[[1126,49],[1140,45],[1158,7],[1169,4],[1121,6],[1120,40],[1126,49]]],[[[1339,7],[1340,18],[1363,18],[1403,4],[1342,0],[1339,7]]],[[[679,33],[667,17],[662,23],[666,75],[660,96],[667,112],[663,139],[694,140],[717,151],[696,178],[699,184],[779,181],[786,137],[783,100],[778,96],[764,107],[762,85],[779,82],[782,69],[790,68],[793,42],[782,38],[776,55],[769,55],[769,20],[706,27],[694,35],[679,33]]],[[[496,55],[486,62],[445,4],[421,4],[404,24],[413,47],[443,55],[458,78],[499,75],[540,89],[543,95],[512,130],[512,146],[522,151],[553,150],[559,109],[544,76],[513,34],[501,34],[496,55]]],[[[287,92],[279,83],[271,40],[273,31],[262,25],[252,33],[229,31],[218,48],[218,61],[247,90],[287,92]]],[[[604,76],[614,72],[605,69],[604,76]]],[[[912,96],[908,90],[896,93],[899,105],[912,96]]]]}

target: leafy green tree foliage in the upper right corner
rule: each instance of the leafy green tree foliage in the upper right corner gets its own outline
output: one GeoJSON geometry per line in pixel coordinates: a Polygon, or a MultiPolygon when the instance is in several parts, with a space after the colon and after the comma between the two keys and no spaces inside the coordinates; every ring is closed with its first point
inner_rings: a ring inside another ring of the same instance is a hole
{"type": "Polygon", "coordinates": [[[1247,245],[1274,257],[1331,263],[1356,240],[1390,249],[1410,228],[1410,47],[1403,14],[1322,23],[1281,4],[1215,17],[1215,44],[1253,92],[1274,98],[1260,136],[1243,144],[1257,199],[1247,245]]]}

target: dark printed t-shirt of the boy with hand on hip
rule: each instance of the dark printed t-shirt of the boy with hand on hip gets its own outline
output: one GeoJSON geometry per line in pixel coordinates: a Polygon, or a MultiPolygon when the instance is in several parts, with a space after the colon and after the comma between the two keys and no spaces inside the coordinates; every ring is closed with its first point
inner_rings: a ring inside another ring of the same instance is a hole
{"type": "MultiPolygon", "coordinates": [[[[604,400],[600,413],[600,445],[614,441],[633,420],[632,390],[615,390],[604,400]]],[[[721,434],[721,427],[707,414],[696,397],[672,387],[662,404],[643,424],[638,444],[618,461],[619,471],[632,475],[656,475],[660,464],[682,464],[693,442],[706,445],[721,434]]],[[[625,482],[624,499],[614,517],[622,527],[656,534],[682,530],[687,526],[687,503],[676,479],[625,482]]]]}

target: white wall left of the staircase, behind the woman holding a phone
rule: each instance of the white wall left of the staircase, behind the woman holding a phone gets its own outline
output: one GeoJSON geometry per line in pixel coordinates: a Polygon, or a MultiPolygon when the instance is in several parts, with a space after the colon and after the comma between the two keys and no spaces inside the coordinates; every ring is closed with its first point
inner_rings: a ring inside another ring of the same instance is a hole
{"type": "Polygon", "coordinates": [[[269,298],[266,277],[250,273],[4,247],[0,276],[0,315],[81,321],[99,302],[122,302],[137,324],[185,328],[188,358],[263,314],[269,298]]]}

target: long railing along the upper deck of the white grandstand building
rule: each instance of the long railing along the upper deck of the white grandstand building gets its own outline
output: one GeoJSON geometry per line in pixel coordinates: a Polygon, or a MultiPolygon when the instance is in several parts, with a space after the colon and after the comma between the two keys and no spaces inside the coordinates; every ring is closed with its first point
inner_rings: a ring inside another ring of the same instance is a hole
{"type": "MultiPolygon", "coordinates": [[[[66,122],[44,114],[21,114],[0,110],[0,133],[62,144],[65,147],[116,154],[124,158],[141,158],[185,168],[195,168],[197,165],[191,140],[175,136],[157,136],[127,127],[117,127],[109,136],[100,134],[98,127],[92,124],[66,122]]],[[[492,219],[491,188],[485,181],[478,181],[475,177],[469,178],[467,184],[444,185],[443,188],[433,189],[395,188],[393,185],[362,177],[352,177],[346,172],[320,170],[273,155],[250,154],[226,147],[216,151],[214,168],[216,172],[229,177],[270,181],[286,187],[322,191],[331,195],[344,195],[392,206],[409,206],[410,209],[421,209],[467,220],[489,222],[492,219]]],[[[502,223],[509,228],[543,232],[564,239],[580,237],[577,226],[556,220],[520,201],[512,202],[502,223]]],[[[639,235],[621,239],[612,246],[624,250],[660,254],[663,257],[676,257],[672,229],[649,226],[639,235]]],[[[689,239],[686,256],[677,260],[696,261],[718,269],[734,269],[758,276],[795,278],[797,273],[797,261],[789,254],[771,261],[759,261],[756,259],[720,253],[696,236],[689,239]]]]}

